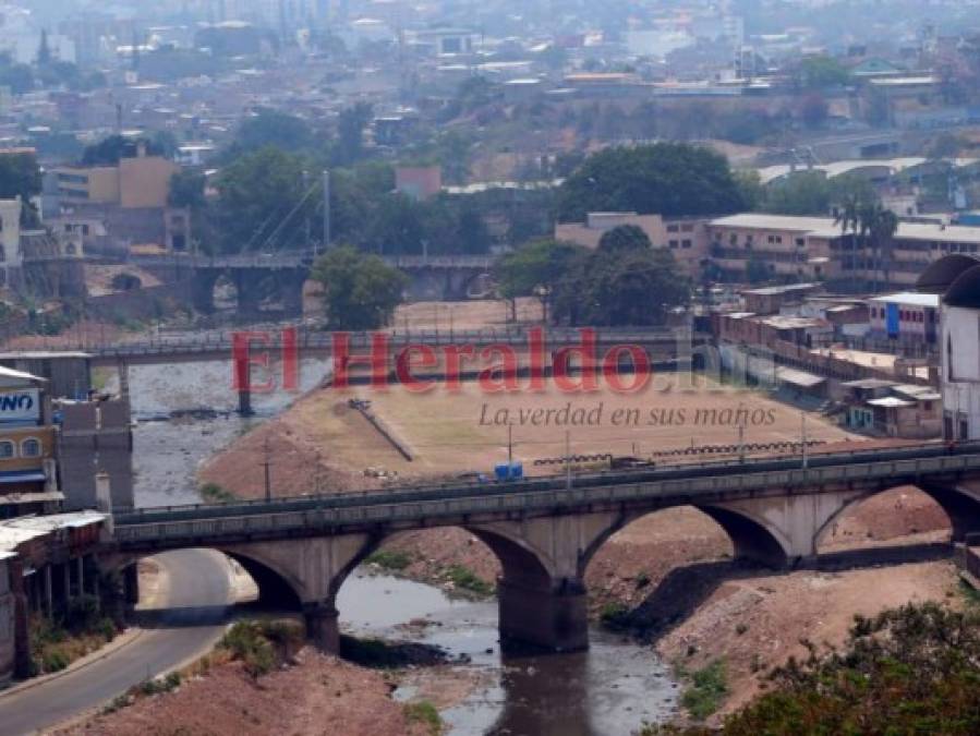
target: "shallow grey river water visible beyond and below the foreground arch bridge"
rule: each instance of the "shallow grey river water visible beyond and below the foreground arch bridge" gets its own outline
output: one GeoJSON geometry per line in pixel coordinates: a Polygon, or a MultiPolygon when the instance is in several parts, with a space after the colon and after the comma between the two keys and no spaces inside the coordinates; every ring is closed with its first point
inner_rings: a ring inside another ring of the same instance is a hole
{"type": "MultiPolygon", "coordinates": [[[[227,363],[131,370],[137,506],[199,502],[199,463],[295,398],[258,397],[256,417],[242,419],[232,411],[229,373],[227,363]]],[[[303,375],[304,388],[314,387],[317,366],[303,375]]],[[[453,600],[437,588],[365,570],[344,582],[338,608],[347,632],[436,645],[479,675],[469,695],[440,712],[449,734],[620,736],[677,708],[677,686],[652,649],[598,629],[590,634],[588,652],[503,655],[495,602],[453,600]],[[420,619],[426,625],[406,630],[420,619]]],[[[411,685],[395,692],[404,700],[415,695],[411,685]]]]}

